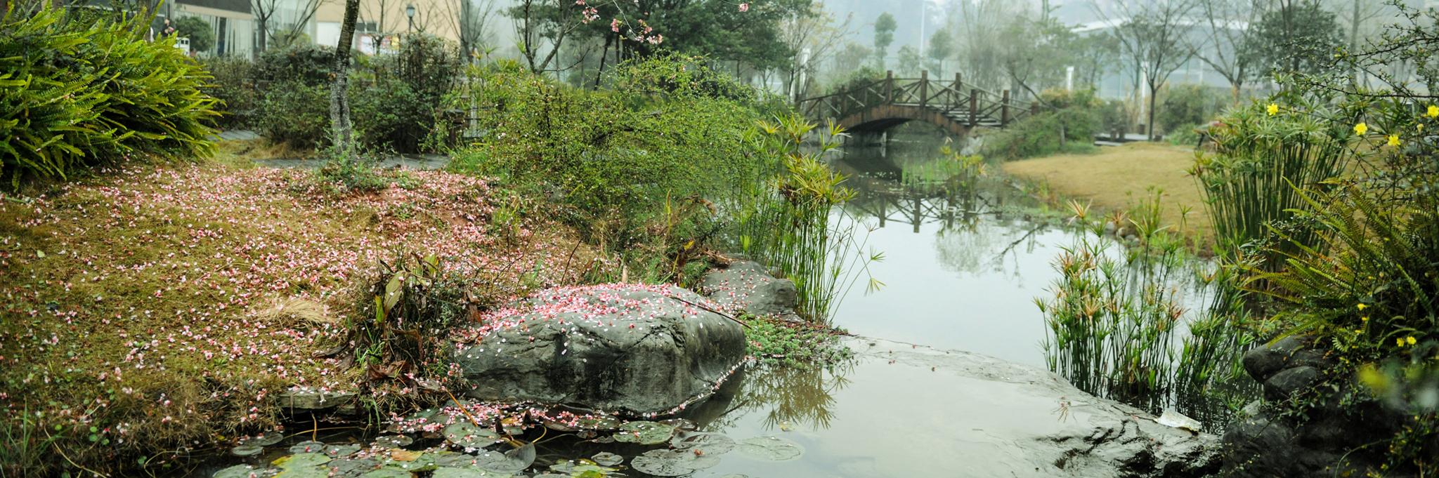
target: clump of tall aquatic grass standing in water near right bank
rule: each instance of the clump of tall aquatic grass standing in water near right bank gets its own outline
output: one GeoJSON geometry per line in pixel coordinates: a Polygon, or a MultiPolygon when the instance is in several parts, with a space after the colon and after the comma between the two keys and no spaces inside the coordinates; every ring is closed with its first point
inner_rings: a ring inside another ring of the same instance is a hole
{"type": "MultiPolygon", "coordinates": [[[[1197,316],[1183,307],[1184,240],[1160,225],[1158,191],[1109,221],[1132,230],[1122,251],[1092,227],[1055,260],[1061,277],[1049,300],[1035,303],[1048,324],[1045,359],[1079,389],[1151,412],[1180,412],[1223,422],[1232,402],[1253,396],[1239,357],[1255,334],[1239,301],[1206,294],[1197,316]]],[[[1084,221],[1088,208],[1072,204],[1084,221]]],[[[1213,281],[1213,277],[1210,277],[1213,281]]]]}

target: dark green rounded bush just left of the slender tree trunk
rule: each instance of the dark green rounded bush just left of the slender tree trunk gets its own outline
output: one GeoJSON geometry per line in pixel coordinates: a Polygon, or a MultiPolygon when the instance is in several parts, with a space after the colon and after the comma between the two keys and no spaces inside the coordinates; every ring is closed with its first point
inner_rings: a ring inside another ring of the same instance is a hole
{"type": "Polygon", "coordinates": [[[271,83],[259,102],[255,128],[266,139],[292,148],[322,145],[330,135],[330,86],[271,83]]]}

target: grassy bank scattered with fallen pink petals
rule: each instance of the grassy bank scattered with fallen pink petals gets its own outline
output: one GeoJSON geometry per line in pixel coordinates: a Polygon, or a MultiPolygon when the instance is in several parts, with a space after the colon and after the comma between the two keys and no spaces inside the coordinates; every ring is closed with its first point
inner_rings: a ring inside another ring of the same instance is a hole
{"type": "Polygon", "coordinates": [[[354,388],[360,369],[317,356],[344,342],[355,284],[399,254],[499,296],[596,266],[554,224],[492,228],[484,179],[383,174],[387,188],[351,194],[223,159],[0,200],[4,475],[155,469],[158,451],[275,425],[291,388],[354,388]]]}

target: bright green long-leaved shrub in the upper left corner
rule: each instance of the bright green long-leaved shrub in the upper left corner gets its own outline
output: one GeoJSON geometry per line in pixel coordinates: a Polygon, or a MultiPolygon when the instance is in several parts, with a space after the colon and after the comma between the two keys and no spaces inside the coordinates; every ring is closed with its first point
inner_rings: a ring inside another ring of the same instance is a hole
{"type": "Polygon", "coordinates": [[[0,177],[68,178],[137,155],[213,152],[203,67],[132,22],[69,22],[42,6],[0,20],[0,177]]]}

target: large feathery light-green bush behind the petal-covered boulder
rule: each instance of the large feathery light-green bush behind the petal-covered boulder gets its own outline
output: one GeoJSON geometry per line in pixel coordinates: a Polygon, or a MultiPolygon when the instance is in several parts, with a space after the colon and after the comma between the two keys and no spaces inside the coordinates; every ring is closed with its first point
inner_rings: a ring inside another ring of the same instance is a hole
{"type": "Polygon", "coordinates": [[[472,73],[486,135],[453,168],[534,184],[568,220],[623,248],[650,237],[668,201],[717,201],[761,178],[750,145],[758,119],[735,102],[671,98],[640,111],[614,92],[586,92],[502,62],[472,73]]]}

